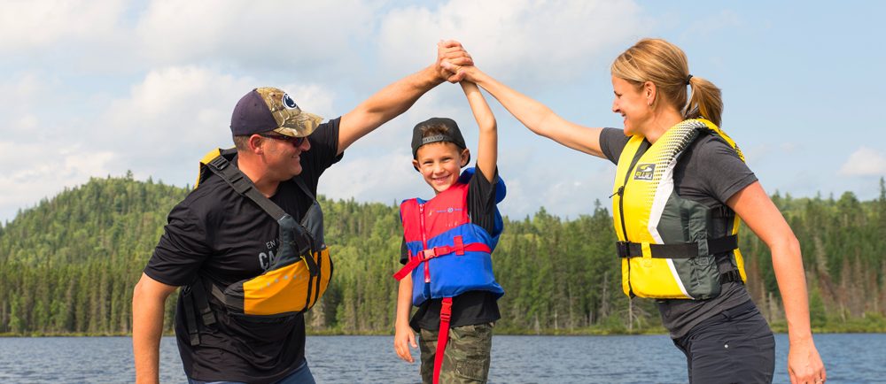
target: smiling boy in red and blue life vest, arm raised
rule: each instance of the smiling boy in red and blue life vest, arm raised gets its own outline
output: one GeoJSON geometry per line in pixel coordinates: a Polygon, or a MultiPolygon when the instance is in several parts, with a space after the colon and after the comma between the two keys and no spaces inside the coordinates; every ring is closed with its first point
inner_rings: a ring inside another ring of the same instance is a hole
{"type": "Polygon", "coordinates": [[[477,85],[461,85],[479,127],[476,168],[459,174],[470,151],[455,121],[421,122],[413,130],[412,164],[436,196],[400,205],[406,266],[394,275],[400,280],[394,349],[412,363],[408,347],[416,348],[413,331],[420,334],[426,384],[486,382],[492,327],[501,318],[496,301],[504,294],[491,258],[503,227],[495,204],[505,194],[495,165],[495,118],[477,85]],[[410,321],[412,304],[418,311],[410,321]]]}

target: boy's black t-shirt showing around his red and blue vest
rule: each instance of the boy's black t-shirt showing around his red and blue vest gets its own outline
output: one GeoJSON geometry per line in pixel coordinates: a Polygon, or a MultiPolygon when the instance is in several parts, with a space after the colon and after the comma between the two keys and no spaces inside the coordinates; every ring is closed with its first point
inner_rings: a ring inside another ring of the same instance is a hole
{"type": "MultiPolygon", "coordinates": [[[[495,170],[493,180],[498,177],[495,170]]],[[[470,222],[495,233],[495,184],[486,180],[479,168],[474,169],[474,176],[468,183],[468,216],[470,222]]],[[[406,242],[400,247],[400,263],[408,263],[406,242]]],[[[440,305],[442,299],[431,299],[422,303],[409,321],[416,332],[419,328],[438,330],[440,326],[440,305]]],[[[498,300],[492,292],[469,291],[452,299],[452,315],[449,326],[473,326],[491,323],[501,319],[498,300]]]]}

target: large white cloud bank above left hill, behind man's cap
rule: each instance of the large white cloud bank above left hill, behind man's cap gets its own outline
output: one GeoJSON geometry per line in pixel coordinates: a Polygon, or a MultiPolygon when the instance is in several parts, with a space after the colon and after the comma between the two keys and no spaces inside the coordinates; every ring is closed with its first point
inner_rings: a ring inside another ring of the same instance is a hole
{"type": "MultiPolygon", "coordinates": [[[[10,170],[0,175],[0,188],[7,191],[0,213],[11,216],[89,177],[127,170],[137,179],[193,183],[206,151],[231,146],[237,100],[260,85],[198,66],[166,67],[145,74],[97,116],[77,119],[53,109],[51,86],[35,75],[0,82],[0,140],[6,140],[0,142],[0,164],[10,170]]],[[[319,84],[282,88],[309,111],[332,110],[334,94],[319,84]]]]}

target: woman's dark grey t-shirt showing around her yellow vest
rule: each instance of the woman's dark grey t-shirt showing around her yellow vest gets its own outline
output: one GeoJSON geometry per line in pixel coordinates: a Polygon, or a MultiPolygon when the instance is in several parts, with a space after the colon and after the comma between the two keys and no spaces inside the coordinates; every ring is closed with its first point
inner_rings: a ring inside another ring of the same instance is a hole
{"type": "MultiPolygon", "coordinates": [[[[603,128],[600,149],[613,164],[618,164],[625,144],[630,140],[621,129],[603,128]]],[[[673,171],[674,188],[683,198],[711,208],[725,205],[736,192],[757,181],[741,158],[726,142],[703,134],[683,152],[673,171]]],[[[750,300],[744,284],[729,282],[719,296],[708,300],[657,300],[664,327],[674,339],[687,334],[693,326],[721,311],[750,300]]]]}

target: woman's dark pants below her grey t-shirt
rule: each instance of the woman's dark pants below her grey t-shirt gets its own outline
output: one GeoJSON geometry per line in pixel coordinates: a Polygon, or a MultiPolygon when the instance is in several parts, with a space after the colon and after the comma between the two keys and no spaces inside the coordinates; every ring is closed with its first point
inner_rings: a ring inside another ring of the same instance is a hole
{"type": "Polygon", "coordinates": [[[750,300],[705,319],[673,343],[686,355],[690,383],[773,381],[775,337],[750,300]]]}

